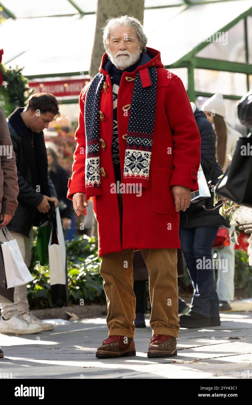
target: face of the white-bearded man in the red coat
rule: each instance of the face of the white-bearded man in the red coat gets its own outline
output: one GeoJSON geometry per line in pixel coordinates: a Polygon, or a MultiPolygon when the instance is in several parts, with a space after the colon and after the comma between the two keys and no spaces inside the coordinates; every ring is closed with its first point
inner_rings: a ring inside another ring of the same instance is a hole
{"type": "Polygon", "coordinates": [[[140,58],[139,40],[133,27],[113,28],[109,38],[109,58],[117,69],[124,70],[140,58]]]}

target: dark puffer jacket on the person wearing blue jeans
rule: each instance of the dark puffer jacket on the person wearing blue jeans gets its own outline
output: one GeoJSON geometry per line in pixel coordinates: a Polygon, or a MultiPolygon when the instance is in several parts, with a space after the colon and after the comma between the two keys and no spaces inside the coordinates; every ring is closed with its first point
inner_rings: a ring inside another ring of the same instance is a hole
{"type": "MultiPolygon", "coordinates": [[[[223,174],[220,165],[216,162],[216,135],[203,111],[196,108],[194,117],[201,135],[201,167],[207,182],[211,180],[211,184],[216,185],[219,181],[218,177],[223,174]],[[212,169],[213,173],[211,175],[212,169]]],[[[207,198],[205,207],[211,211],[206,211],[203,207],[191,208],[191,206],[184,212],[180,211],[179,228],[221,225],[230,227],[229,220],[219,214],[219,208],[214,209],[214,192],[211,191],[211,188],[209,188],[209,191],[211,197],[207,198]]]]}

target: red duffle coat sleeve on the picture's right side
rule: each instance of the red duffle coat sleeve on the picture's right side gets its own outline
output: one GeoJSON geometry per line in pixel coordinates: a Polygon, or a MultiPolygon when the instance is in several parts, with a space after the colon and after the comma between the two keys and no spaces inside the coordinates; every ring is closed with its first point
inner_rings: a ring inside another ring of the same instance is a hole
{"type": "Polygon", "coordinates": [[[170,185],[199,190],[197,174],[201,160],[201,138],[186,89],[179,77],[167,87],[166,114],[173,137],[173,175],[170,185]]]}

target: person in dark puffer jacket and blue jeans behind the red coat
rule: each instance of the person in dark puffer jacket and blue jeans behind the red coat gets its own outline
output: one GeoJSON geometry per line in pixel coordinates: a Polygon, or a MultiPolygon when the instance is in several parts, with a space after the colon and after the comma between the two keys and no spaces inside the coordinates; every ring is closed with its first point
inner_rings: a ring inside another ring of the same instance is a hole
{"type": "MultiPolygon", "coordinates": [[[[201,167],[206,181],[216,185],[218,177],[222,175],[220,165],[216,162],[216,136],[205,113],[197,109],[194,103],[191,105],[201,136],[201,167]]],[[[182,328],[220,325],[211,249],[219,226],[229,227],[230,224],[219,213],[220,203],[214,206],[213,188],[209,187],[209,191],[211,197],[199,205],[191,204],[186,211],[179,213],[179,238],[194,288],[190,311],[179,320],[182,328]]]]}

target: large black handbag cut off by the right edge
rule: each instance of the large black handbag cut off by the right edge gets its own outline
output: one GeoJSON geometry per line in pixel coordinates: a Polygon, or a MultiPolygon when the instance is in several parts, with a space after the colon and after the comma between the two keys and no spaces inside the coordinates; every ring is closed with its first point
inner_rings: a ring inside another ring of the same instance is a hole
{"type": "Polygon", "coordinates": [[[239,138],[233,154],[231,165],[227,168],[216,194],[228,198],[237,204],[252,207],[252,134],[239,138]]]}

